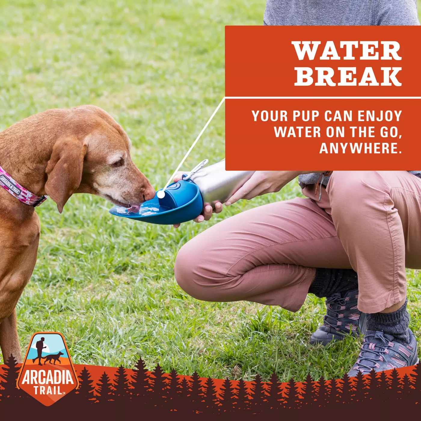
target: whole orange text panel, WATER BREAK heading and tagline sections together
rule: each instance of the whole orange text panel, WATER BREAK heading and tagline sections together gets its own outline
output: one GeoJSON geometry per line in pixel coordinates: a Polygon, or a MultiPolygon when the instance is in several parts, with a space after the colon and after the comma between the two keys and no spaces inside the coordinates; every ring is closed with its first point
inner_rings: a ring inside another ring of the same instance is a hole
{"type": "Polygon", "coordinates": [[[420,35],[421,27],[226,27],[226,168],[419,167],[420,35]]]}

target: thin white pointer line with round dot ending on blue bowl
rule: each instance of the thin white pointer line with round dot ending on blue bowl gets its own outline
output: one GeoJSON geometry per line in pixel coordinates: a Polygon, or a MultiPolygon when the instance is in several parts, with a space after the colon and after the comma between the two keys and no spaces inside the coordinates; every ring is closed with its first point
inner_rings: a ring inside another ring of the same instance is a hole
{"type": "Polygon", "coordinates": [[[205,127],[200,131],[199,136],[197,136],[196,140],[193,142],[186,155],[184,155],[184,158],[181,160],[181,163],[179,163],[178,167],[176,168],[176,171],[174,171],[173,175],[167,181],[167,184],[165,184],[165,187],[161,190],[160,196],[165,196],[165,189],[168,187],[168,184],[170,184],[171,181],[173,181],[177,171],[179,171],[181,165],[183,165],[190,152],[192,152],[192,149],[197,144],[197,141],[200,139],[200,136],[203,135],[203,132],[206,130],[209,123],[212,121],[213,117],[218,112],[218,109],[221,108],[221,105],[224,104],[224,101],[226,99],[421,99],[421,96],[224,96],[224,98],[221,99],[221,102],[219,103],[218,107],[216,107],[215,111],[210,116],[208,122],[205,124],[205,127]]]}

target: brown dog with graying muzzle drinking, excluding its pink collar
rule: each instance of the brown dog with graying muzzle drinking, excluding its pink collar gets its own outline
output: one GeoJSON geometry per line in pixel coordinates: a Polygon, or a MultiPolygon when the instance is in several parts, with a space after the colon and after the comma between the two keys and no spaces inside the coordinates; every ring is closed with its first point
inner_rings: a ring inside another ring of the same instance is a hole
{"type": "MultiPolygon", "coordinates": [[[[130,157],[130,140],[92,105],[51,109],[0,133],[0,166],[34,195],[48,195],[61,213],[73,193],[91,193],[124,207],[155,196],[130,157]]],[[[40,222],[34,207],[0,187],[0,347],[21,362],[16,303],[37,258],[40,222]]]]}

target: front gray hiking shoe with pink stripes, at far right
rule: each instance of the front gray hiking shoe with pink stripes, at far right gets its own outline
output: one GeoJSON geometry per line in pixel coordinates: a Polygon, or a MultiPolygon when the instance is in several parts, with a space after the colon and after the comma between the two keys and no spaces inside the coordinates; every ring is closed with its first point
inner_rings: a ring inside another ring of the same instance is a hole
{"type": "Polygon", "coordinates": [[[355,377],[358,371],[367,374],[372,368],[383,371],[417,364],[417,341],[410,329],[408,333],[410,343],[407,345],[395,341],[392,335],[367,330],[358,360],[349,370],[348,376],[355,377]]]}

